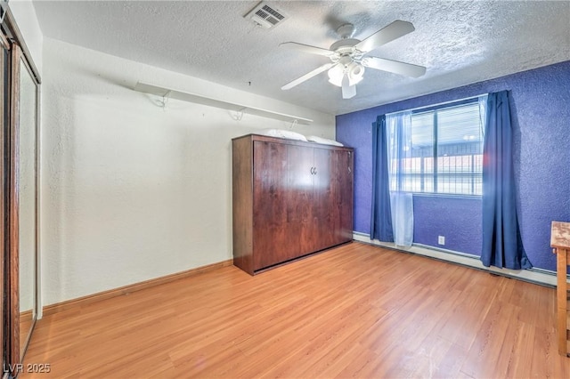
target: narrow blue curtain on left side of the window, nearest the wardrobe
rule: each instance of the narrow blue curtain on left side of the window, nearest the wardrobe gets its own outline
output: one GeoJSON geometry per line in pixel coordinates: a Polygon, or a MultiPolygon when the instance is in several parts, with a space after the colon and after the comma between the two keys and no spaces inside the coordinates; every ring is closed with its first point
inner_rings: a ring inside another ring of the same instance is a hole
{"type": "Polygon", "coordinates": [[[386,117],[382,115],[372,124],[371,239],[384,242],[394,242],[389,186],[386,117]]]}

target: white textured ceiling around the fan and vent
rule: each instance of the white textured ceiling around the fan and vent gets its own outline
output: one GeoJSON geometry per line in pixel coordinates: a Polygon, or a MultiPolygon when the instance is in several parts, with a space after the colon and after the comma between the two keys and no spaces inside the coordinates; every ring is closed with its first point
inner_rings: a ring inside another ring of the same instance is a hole
{"type": "Polygon", "coordinates": [[[256,4],[34,2],[45,36],[333,115],[570,60],[570,1],[268,1],[289,14],[273,29],[243,18],[256,4]],[[394,20],[416,30],[371,55],[426,66],[425,76],[367,69],[350,100],[326,73],[281,91],[329,61],[282,42],[329,48],[343,23],[363,39],[394,20]]]}

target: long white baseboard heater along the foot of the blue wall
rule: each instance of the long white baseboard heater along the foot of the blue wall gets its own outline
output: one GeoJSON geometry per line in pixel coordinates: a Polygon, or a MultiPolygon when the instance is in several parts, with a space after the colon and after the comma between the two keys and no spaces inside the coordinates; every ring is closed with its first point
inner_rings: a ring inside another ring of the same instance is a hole
{"type": "Polygon", "coordinates": [[[517,278],[520,280],[525,280],[527,282],[532,282],[540,284],[543,286],[556,287],[556,272],[550,270],[542,269],[529,269],[529,270],[509,270],[509,269],[499,269],[497,267],[485,267],[483,263],[479,260],[479,257],[471,254],[463,254],[459,252],[454,252],[452,250],[438,249],[432,246],[425,246],[414,244],[409,248],[403,246],[395,246],[391,242],[381,242],[377,239],[371,239],[370,235],[353,232],[353,239],[355,241],[364,242],[371,245],[387,247],[395,250],[401,250],[404,252],[425,255],[432,258],[436,258],[442,261],[459,263],[464,266],[473,267],[478,270],[485,270],[493,274],[506,276],[509,278],[517,278]]]}

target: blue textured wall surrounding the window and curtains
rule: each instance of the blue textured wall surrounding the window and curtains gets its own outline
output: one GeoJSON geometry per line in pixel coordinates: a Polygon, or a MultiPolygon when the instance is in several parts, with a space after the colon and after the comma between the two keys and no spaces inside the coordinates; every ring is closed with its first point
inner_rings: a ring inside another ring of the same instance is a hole
{"type": "MultiPolygon", "coordinates": [[[[556,270],[550,222],[570,222],[570,61],[338,116],[337,140],[354,147],[354,230],[370,233],[371,124],[377,116],[502,90],[511,92],[517,210],[525,250],[534,267],[556,270]]],[[[445,248],[480,254],[476,200],[442,206],[446,200],[414,197],[414,238],[437,246],[435,233],[444,230],[445,248]],[[460,228],[462,222],[470,226],[460,228]]]]}

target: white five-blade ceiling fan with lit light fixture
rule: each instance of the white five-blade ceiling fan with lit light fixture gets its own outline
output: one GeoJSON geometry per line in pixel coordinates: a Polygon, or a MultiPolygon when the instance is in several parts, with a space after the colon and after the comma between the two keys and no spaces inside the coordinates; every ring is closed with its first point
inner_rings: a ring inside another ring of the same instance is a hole
{"type": "Polygon", "coordinates": [[[353,24],[343,24],[337,28],[337,33],[342,39],[331,44],[330,49],[323,49],[308,44],[297,44],[296,42],[282,43],[280,46],[284,48],[329,57],[330,63],[323,64],[321,67],[302,77],[298,77],[287,85],[283,85],[281,90],[289,90],[326,70],[329,70],[329,82],[342,88],[343,99],[350,99],[356,95],[356,84],[362,81],[364,68],[380,69],[407,77],[421,77],[426,73],[426,68],[423,66],[366,56],[368,52],[379,46],[405,36],[414,30],[415,28],[411,22],[395,20],[387,27],[381,28],[361,41],[352,38],[354,34],[353,24]]]}

